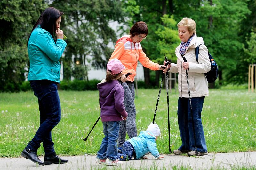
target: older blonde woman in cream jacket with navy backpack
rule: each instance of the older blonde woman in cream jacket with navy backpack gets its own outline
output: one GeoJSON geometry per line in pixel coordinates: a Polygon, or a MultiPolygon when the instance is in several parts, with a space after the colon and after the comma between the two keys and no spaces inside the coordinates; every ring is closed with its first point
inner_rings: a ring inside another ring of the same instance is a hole
{"type": "Polygon", "coordinates": [[[178,123],[182,145],[173,152],[177,155],[182,153],[188,153],[189,156],[207,155],[201,112],[204,97],[209,95],[208,83],[204,75],[211,69],[208,49],[205,45],[200,46],[197,62],[195,48],[203,44],[204,41],[202,37],[196,36],[195,21],[190,18],[183,18],[177,26],[181,43],[175,50],[177,64],[171,63],[169,72],[179,73],[178,123]],[[184,62],[182,56],[186,58],[187,62],[184,62]],[[186,70],[192,110],[188,95],[186,70]]]}

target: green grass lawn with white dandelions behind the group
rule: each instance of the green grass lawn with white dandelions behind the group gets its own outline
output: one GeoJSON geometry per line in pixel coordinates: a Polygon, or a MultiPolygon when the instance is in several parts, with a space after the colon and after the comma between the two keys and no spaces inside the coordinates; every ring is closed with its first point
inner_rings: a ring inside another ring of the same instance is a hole
{"type": "MultiPolygon", "coordinates": [[[[153,120],[158,89],[139,89],[135,99],[137,129],[146,130],[153,120]]],[[[60,123],[52,131],[57,154],[96,154],[103,138],[99,121],[98,91],[59,91],[60,123]]],[[[169,91],[171,149],[181,145],[177,119],[178,93],[169,91]]],[[[208,152],[244,152],[256,150],[256,93],[246,89],[210,89],[205,98],[202,122],[208,152]]],[[[160,153],[168,154],[168,118],[166,92],[162,90],[155,122],[161,129],[156,141],[160,153]]],[[[39,109],[33,92],[0,93],[0,157],[17,157],[33,138],[39,126],[39,109]]],[[[127,137],[128,138],[128,137],[127,137]]],[[[44,155],[40,147],[38,155],[44,155]]]]}

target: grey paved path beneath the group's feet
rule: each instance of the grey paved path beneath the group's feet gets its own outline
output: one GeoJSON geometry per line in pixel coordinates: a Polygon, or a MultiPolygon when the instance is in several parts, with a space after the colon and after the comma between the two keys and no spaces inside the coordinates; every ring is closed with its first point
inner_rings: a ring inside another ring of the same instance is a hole
{"type": "MultiPolygon", "coordinates": [[[[122,166],[105,166],[95,163],[95,155],[70,156],[67,164],[54,164],[45,166],[36,166],[35,163],[23,157],[20,158],[0,158],[0,170],[69,170],[69,169],[173,169],[176,167],[189,167],[192,169],[231,169],[232,167],[254,167],[256,168],[256,152],[237,152],[237,153],[216,153],[200,157],[188,157],[187,155],[163,155],[164,159],[154,159],[148,155],[149,159],[124,161],[122,166]]],[[[40,157],[44,160],[44,157],[40,157]]]]}

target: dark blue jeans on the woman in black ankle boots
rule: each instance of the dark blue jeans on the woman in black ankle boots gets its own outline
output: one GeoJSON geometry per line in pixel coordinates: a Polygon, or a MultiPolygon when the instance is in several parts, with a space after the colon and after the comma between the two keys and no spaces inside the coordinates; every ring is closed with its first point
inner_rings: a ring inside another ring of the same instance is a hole
{"type": "Polygon", "coordinates": [[[43,142],[45,155],[51,155],[55,153],[51,131],[60,122],[61,118],[57,84],[31,81],[30,86],[34,95],[38,98],[40,126],[34,138],[28,143],[27,148],[37,152],[40,143],[43,142]]]}

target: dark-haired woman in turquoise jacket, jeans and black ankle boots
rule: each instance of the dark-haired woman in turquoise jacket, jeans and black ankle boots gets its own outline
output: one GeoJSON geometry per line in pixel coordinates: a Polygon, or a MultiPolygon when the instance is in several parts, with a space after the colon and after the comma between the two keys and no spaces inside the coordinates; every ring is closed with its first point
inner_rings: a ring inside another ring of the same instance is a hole
{"type": "Polygon", "coordinates": [[[61,118],[57,84],[60,83],[59,60],[67,45],[60,30],[62,15],[63,12],[53,7],[44,10],[34,25],[27,43],[30,60],[28,80],[34,95],[38,98],[40,126],[34,138],[21,152],[21,156],[39,165],[68,162],[56,155],[51,133],[61,118]],[[37,149],[42,142],[44,162],[37,156],[37,149]]]}

